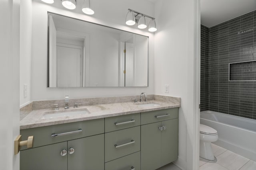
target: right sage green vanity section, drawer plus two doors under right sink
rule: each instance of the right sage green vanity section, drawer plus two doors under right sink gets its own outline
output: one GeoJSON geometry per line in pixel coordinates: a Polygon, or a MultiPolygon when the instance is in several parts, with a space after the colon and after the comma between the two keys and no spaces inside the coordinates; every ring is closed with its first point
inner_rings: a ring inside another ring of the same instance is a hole
{"type": "Polygon", "coordinates": [[[141,126],[141,170],[156,170],[178,158],[178,108],[148,113],[141,113],[141,120],[151,116],[141,126]]]}

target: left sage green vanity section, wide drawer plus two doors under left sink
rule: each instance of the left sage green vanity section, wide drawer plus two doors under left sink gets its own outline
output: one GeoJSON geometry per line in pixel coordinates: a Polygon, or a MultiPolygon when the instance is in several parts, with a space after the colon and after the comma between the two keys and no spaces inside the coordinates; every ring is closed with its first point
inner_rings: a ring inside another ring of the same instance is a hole
{"type": "Polygon", "coordinates": [[[40,145],[20,151],[20,170],[104,170],[104,119],[46,126],[37,130],[20,131],[21,135],[30,132],[29,135],[34,135],[36,146],[40,145]],[[56,137],[51,134],[77,129],[82,131],[56,137]],[[42,141],[36,141],[36,137],[42,141]]]}

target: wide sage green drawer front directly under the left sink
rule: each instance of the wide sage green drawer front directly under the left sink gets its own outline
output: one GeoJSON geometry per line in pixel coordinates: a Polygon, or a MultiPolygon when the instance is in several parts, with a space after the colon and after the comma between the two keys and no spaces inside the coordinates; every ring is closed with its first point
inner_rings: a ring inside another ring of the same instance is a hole
{"type": "MultiPolygon", "coordinates": [[[[63,141],[69,141],[72,139],[78,139],[82,137],[88,137],[104,133],[104,119],[94,119],[88,121],[79,121],[73,123],[64,123],[59,125],[36,127],[31,129],[20,130],[22,140],[28,139],[28,136],[34,135],[33,147],[40,147],[44,145],[50,145],[52,143],[59,143],[63,141]],[[78,131],[82,129],[82,131],[78,131]],[[66,132],[78,131],[76,133],[70,133],[62,136],[52,137],[52,134],[60,134],[66,132]]],[[[22,147],[22,150],[26,149],[22,147]]]]}

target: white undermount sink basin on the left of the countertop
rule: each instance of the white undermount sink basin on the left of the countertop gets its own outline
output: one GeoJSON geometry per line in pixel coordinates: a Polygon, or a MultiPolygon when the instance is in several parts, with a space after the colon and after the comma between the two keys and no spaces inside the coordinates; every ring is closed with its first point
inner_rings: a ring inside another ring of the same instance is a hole
{"type": "Polygon", "coordinates": [[[44,112],[41,119],[52,119],[58,117],[74,117],[87,115],[90,112],[87,109],[67,109],[67,110],[55,110],[55,111],[46,111],[44,112]]]}

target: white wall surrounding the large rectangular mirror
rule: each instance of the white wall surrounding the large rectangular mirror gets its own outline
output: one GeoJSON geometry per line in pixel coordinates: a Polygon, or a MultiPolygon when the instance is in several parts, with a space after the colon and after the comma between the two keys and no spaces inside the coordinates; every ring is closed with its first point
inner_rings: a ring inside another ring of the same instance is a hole
{"type": "Polygon", "coordinates": [[[154,4],[146,0],[95,0],[95,15],[73,13],[68,10],[33,1],[32,12],[32,69],[31,69],[31,100],[89,98],[102,96],[139,95],[141,92],[154,93],[154,34],[125,25],[128,8],[154,16],[154,4]],[[118,8],[116,8],[118,6],[118,8]],[[149,87],[141,88],[46,88],[47,80],[47,11],[100,23],[110,27],[149,36],[149,87]]]}

